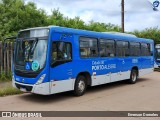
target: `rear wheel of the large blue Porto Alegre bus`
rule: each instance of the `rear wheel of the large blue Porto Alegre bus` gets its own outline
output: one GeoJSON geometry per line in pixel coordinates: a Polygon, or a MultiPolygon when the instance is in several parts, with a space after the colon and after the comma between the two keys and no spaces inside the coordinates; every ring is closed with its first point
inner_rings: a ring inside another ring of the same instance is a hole
{"type": "Polygon", "coordinates": [[[131,71],[131,75],[130,75],[130,79],[128,80],[128,82],[130,84],[134,84],[137,81],[137,76],[138,76],[138,72],[135,69],[132,69],[131,71]]]}

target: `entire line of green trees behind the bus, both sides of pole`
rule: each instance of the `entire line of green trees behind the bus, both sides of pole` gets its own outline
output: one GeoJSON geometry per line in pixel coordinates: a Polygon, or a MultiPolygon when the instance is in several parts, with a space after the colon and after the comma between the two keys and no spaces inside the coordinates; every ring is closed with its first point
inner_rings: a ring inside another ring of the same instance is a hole
{"type": "MultiPolygon", "coordinates": [[[[47,15],[43,9],[37,9],[36,4],[23,0],[0,0],[0,40],[2,37],[14,36],[21,29],[57,25],[63,27],[92,30],[97,32],[121,32],[121,27],[111,23],[99,23],[91,20],[86,24],[79,16],[65,17],[59,9],[54,9],[47,15]]],[[[137,37],[149,38],[160,44],[160,29],[148,28],[143,31],[131,32],[137,37]]]]}

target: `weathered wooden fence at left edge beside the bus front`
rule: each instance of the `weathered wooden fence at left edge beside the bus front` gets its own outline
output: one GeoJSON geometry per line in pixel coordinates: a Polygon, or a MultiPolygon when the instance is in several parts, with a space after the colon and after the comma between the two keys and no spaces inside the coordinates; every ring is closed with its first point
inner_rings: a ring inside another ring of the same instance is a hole
{"type": "Polygon", "coordinates": [[[4,50],[3,45],[3,42],[0,41],[0,74],[10,74],[14,47],[12,42],[8,42],[4,50]]]}

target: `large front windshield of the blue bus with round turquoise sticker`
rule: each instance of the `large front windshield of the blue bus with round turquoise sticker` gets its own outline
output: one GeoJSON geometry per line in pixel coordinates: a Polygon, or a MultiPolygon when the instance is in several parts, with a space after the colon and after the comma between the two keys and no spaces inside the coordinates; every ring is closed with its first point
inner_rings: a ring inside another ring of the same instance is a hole
{"type": "Polygon", "coordinates": [[[46,54],[46,39],[18,40],[15,67],[20,70],[38,71],[45,65],[46,54]]]}

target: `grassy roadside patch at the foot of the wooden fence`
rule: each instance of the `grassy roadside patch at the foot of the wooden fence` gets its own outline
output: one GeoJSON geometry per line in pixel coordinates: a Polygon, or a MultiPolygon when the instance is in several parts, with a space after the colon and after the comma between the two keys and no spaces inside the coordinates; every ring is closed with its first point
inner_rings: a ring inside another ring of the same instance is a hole
{"type": "Polygon", "coordinates": [[[10,80],[5,82],[0,82],[0,97],[7,95],[21,94],[22,92],[16,88],[12,87],[12,82],[10,80]]]}

